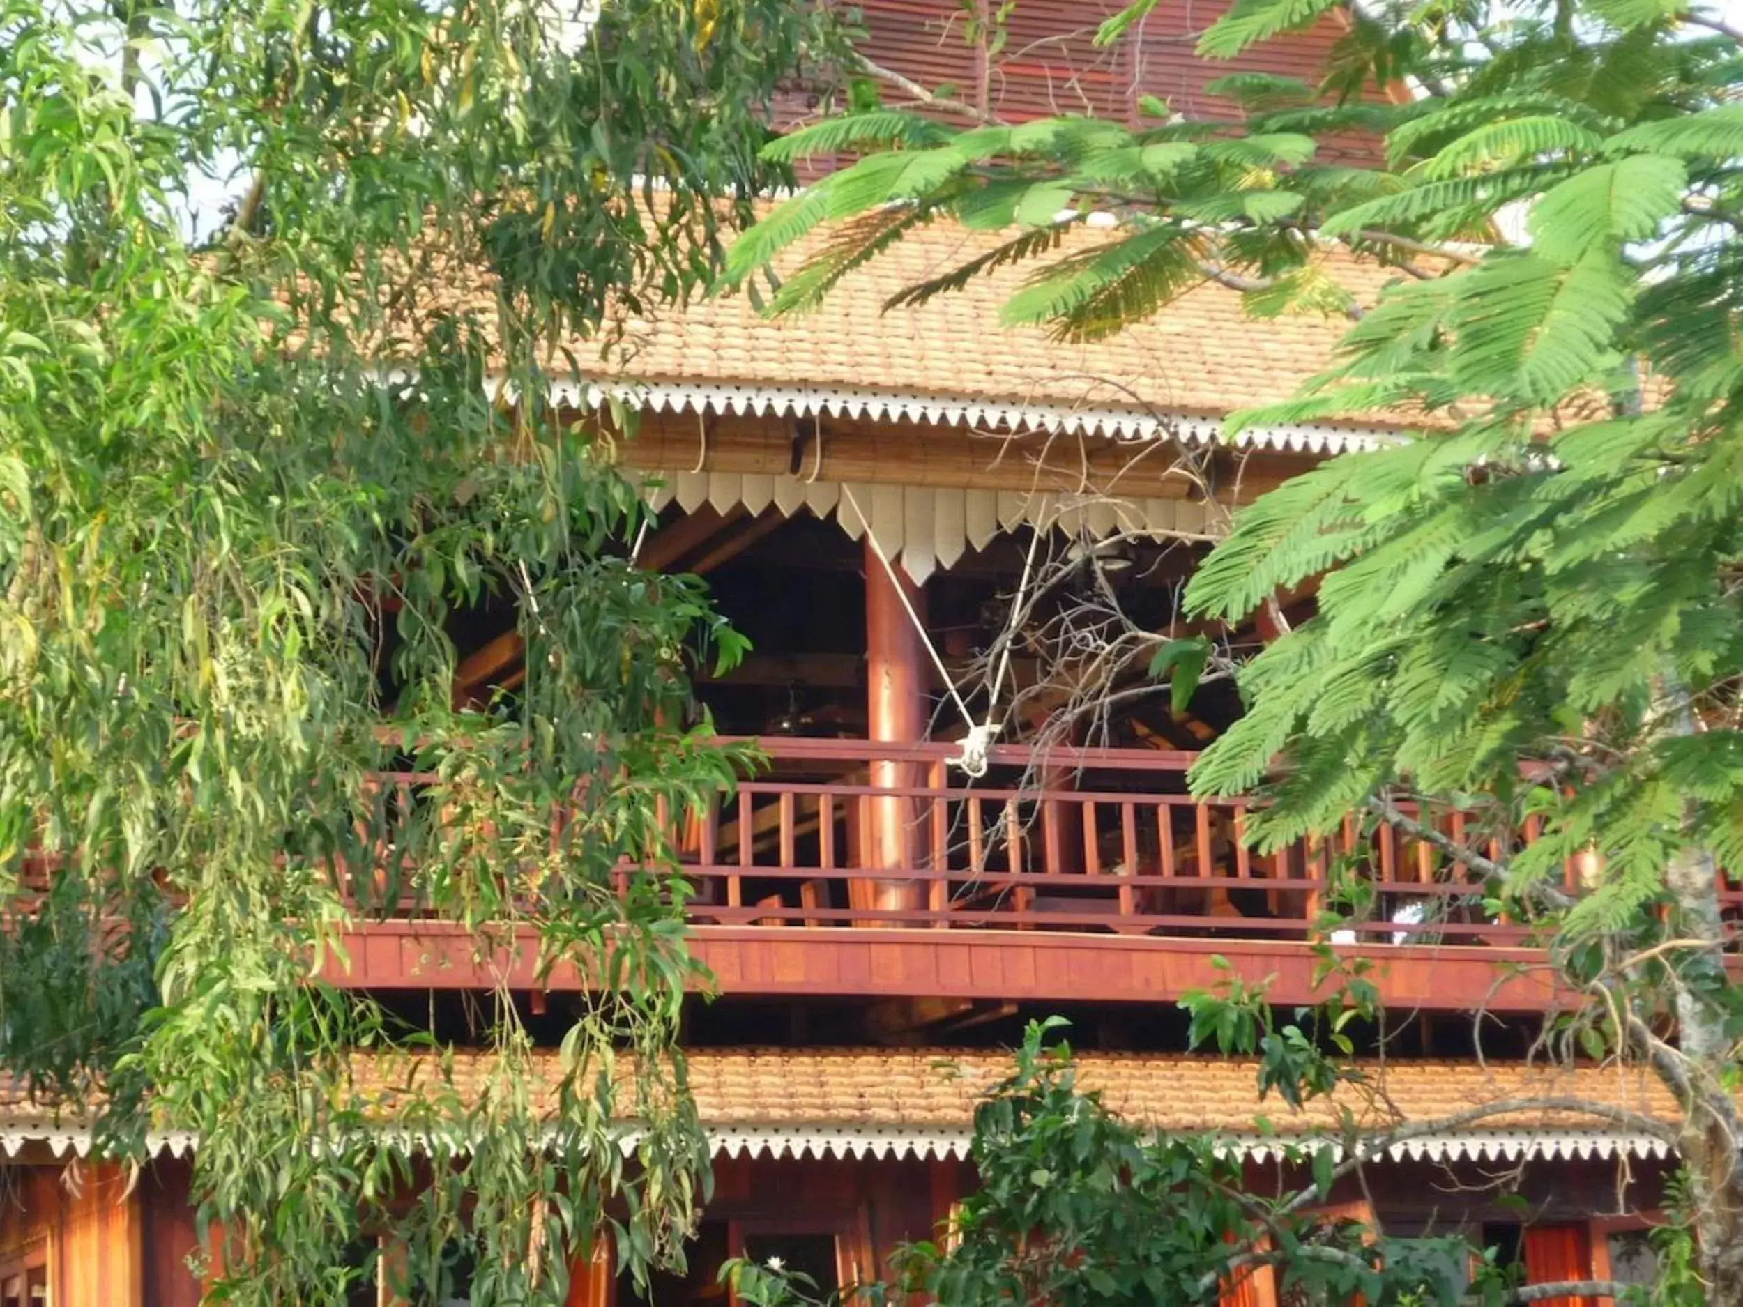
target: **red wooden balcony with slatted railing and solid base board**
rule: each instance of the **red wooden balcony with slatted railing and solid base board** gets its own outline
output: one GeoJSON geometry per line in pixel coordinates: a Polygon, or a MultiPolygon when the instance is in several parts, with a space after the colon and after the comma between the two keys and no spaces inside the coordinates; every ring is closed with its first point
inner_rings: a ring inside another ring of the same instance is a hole
{"type": "MultiPolygon", "coordinates": [[[[1257,854],[1248,803],[1187,793],[1192,753],[999,746],[969,779],[952,744],[758,746],[765,770],[675,823],[692,948],[729,993],[1157,1002],[1215,985],[1225,964],[1293,1004],[1321,992],[1325,945],[1367,958],[1391,1004],[1539,1011],[1553,999],[1529,929],[1490,915],[1482,880],[1447,852],[1349,819],[1332,838],[1257,854]],[[1321,938],[1335,884],[1356,885],[1363,908],[1321,938]]],[[[417,781],[387,791],[411,802],[417,781]]],[[[1401,814],[1502,852],[1462,814],[1401,814]]],[[[523,960],[481,960],[410,906],[359,927],[350,953],[352,969],[333,972],[349,985],[516,986],[516,972],[533,985],[523,960]]]]}

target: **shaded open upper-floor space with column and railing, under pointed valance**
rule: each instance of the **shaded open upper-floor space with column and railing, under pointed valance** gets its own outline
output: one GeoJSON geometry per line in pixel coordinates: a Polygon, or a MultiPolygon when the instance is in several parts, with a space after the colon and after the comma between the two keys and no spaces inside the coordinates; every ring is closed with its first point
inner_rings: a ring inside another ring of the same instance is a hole
{"type": "MultiPolygon", "coordinates": [[[[1220,676],[1177,711],[1149,664],[1154,634],[1251,652],[1278,622],[1311,615],[1311,593],[1246,629],[1204,631],[1182,612],[1203,545],[1023,523],[915,584],[906,556],[880,556],[865,528],[854,538],[842,511],[668,504],[634,545],[647,570],[702,577],[749,641],[722,674],[706,650],[688,655],[706,720],[763,755],[706,810],[675,819],[692,922],[1306,941],[1340,908],[1356,920],[1335,943],[1523,939],[1487,913],[1489,885],[1405,830],[1349,821],[1260,852],[1245,838],[1245,802],[1187,793],[1192,756],[1241,706],[1220,676]],[[1119,629],[1138,638],[1109,669],[1102,636],[1119,629]],[[1081,711],[1088,699],[1095,713],[1081,711]],[[969,767],[964,737],[988,721],[999,732],[985,767],[969,767]],[[1358,897],[1325,896],[1335,868],[1363,870],[1358,897]]],[[[397,633],[385,617],[390,704],[397,633]]],[[[450,617],[457,708],[514,709],[516,626],[507,587],[450,617]]],[[[401,777],[371,802],[390,823],[417,786],[401,777]]],[[[1407,816],[1459,842],[1487,838],[1490,852],[1529,838],[1485,835],[1462,814],[1407,816]]]]}

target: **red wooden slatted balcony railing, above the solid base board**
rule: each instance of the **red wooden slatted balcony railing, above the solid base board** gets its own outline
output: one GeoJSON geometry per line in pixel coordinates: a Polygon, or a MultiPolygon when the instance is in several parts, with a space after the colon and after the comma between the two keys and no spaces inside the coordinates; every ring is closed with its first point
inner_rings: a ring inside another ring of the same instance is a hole
{"type": "MultiPolygon", "coordinates": [[[[1260,854],[1245,840],[1248,802],[1187,793],[1196,755],[1185,751],[997,746],[987,775],[969,779],[952,765],[953,744],[756,746],[765,770],[673,823],[695,925],[1295,941],[1330,929],[1333,943],[1361,945],[1532,938],[1489,911],[1495,887],[1448,845],[1497,861],[1537,838],[1536,821],[1480,831],[1469,814],[1400,803],[1408,826],[1349,817],[1332,836],[1260,854]],[[894,861],[892,847],[903,854],[894,861]],[[1330,927],[1328,906],[1340,913],[1330,927]]],[[[373,802],[408,809],[429,779],[383,775],[373,802]]],[[[626,884],[634,875],[621,873],[626,884]]],[[[1579,877],[1570,863],[1574,892],[1579,877]]],[[[1743,911],[1743,891],[1724,877],[1720,897],[1727,917],[1743,911]]]]}

